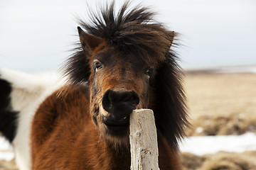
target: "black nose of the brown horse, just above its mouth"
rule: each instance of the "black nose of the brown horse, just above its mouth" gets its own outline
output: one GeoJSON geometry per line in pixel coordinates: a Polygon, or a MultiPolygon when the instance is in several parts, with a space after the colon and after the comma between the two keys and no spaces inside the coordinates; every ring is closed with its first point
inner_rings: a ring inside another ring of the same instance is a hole
{"type": "Polygon", "coordinates": [[[102,98],[105,111],[119,120],[127,117],[139,104],[139,96],[135,91],[107,90],[102,98]]]}

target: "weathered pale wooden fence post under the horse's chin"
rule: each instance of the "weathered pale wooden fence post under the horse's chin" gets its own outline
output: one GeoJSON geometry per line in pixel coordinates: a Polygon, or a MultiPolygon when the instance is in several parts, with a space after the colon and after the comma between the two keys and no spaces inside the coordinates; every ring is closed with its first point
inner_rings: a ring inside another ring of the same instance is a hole
{"type": "Polygon", "coordinates": [[[137,109],[130,116],[131,170],[159,170],[154,113],[137,109]]]}

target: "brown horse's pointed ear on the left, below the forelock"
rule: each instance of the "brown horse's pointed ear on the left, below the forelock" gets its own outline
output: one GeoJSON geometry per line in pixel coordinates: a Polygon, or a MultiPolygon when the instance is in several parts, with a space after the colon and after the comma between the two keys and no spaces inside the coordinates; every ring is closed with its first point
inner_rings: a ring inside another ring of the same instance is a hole
{"type": "Polygon", "coordinates": [[[82,48],[83,50],[85,50],[85,52],[94,51],[96,47],[98,47],[100,44],[104,42],[102,38],[98,38],[94,35],[85,33],[85,31],[83,31],[80,27],[78,27],[78,34],[82,48]]]}

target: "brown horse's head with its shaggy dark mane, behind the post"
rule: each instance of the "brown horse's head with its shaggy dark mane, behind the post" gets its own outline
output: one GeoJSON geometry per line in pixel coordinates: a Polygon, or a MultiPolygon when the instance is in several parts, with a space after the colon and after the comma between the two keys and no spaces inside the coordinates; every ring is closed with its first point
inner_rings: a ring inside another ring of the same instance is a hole
{"type": "Polygon", "coordinates": [[[129,146],[129,115],[151,108],[156,127],[176,146],[186,106],[170,50],[174,31],[154,23],[149,8],[127,11],[127,6],[117,16],[112,4],[101,9],[102,16],[92,14],[91,23],[80,21],[80,47],[68,59],[66,74],[73,83],[89,82],[90,113],[107,142],[129,146]]]}

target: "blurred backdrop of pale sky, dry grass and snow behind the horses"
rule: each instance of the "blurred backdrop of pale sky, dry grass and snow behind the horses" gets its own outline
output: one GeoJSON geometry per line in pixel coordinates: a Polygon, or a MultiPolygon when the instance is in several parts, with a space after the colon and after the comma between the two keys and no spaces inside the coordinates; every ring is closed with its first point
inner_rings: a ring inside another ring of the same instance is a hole
{"type": "MultiPolygon", "coordinates": [[[[78,42],[76,18],[88,21],[87,4],[95,10],[106,1],[1,0],[0,67],[58,70],[78,42]]],[[[191,122],[181,141],[184,169],[256,169],[256,1],[133,0],[132,6],[139,3],[181,34],[176,51],[191,122]]],[[[0,170],[16,169],[9,145],[0,146],[0,170]]]]}

